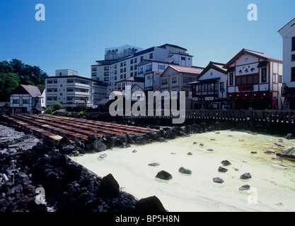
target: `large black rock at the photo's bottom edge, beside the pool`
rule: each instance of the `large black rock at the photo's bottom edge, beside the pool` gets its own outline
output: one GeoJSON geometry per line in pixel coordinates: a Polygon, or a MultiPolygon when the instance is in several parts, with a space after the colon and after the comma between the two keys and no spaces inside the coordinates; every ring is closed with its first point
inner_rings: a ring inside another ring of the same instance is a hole
{"type": "Polygon", "coordinates": [[[166,212],[166,209],[156,196],[151,196],[137,201],[134,212],[166,212]]]}

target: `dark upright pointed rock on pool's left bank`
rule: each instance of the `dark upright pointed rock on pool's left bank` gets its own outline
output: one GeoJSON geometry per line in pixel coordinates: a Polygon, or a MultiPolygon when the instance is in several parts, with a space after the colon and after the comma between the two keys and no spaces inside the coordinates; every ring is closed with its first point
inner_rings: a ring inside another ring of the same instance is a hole
{"type": "Polygon", "coordinates": [[[112,174],[108,174],[101,180],[98,194],[100,194],[100,196],[117,198],[120,194],[119,188],[120,186],[115,178],[112,177],[112,174]]]}

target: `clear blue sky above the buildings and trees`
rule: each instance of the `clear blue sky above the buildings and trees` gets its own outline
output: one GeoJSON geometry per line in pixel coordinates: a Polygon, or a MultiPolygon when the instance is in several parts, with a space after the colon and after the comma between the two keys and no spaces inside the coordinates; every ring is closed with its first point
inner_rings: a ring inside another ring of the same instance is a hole
{"type": "Polygon", "coordinates": [[[295,18],[294,0],[1,0],[0,61],[16,58],[90,77],[106,47],[185,47],[194,66],[226,64],[241,49],[282,59],[278,30],[295,18]],[[35,20],[36,4],[45,21],[35,20]],[[258,20],[248,20],[248,4],[258,20]]]}

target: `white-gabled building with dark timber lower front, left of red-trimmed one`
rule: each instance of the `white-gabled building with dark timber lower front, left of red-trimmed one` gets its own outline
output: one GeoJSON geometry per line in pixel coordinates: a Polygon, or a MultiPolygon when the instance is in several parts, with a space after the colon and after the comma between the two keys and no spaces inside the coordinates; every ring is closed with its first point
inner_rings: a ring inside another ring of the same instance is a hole
{"type": "Polygon", "coordinates": [[[229,108],[225,64],[210,62],[192,85],[192,109],[229,108]]]}

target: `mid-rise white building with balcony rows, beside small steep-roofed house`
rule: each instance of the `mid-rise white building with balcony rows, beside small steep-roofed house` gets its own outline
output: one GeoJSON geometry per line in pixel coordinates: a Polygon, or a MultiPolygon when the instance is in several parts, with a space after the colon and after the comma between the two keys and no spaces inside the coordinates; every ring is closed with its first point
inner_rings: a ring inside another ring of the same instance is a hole
{"type": "Polygon", "coordinates": [[[63,107],[93,107],[106,96],[106,85],[93,81],[91,78],[78,76],[77,71],[57,70],[57,76],[46,78],[46,107],[54,102],[62,103],[63,107]]]}

